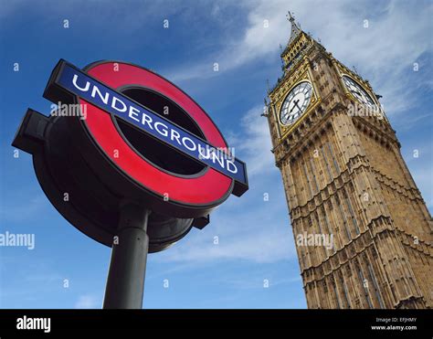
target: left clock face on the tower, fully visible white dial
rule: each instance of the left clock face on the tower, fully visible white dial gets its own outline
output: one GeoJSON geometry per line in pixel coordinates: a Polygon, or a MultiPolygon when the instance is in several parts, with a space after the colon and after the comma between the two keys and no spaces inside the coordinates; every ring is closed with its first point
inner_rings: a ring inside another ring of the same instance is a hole
{"type": "Polygon", "coordinates": [[[308,81],[299,83],[287,95],[280,111],[280,122],[283,125],[290,125],[295,122],[312,101],[312,84],[308,81]]]}

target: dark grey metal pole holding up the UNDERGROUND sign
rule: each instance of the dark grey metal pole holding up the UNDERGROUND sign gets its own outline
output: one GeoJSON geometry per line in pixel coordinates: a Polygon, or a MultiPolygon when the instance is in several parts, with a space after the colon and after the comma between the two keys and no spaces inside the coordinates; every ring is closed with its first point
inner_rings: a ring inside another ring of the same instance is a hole
{"type": "Polygon", "coordinates": [[[141,309],[143,306],[149,215],[150,210],[134,203],[121,206],[118,238],[114,239],[111,250],[104,309],[141,309]]]}

